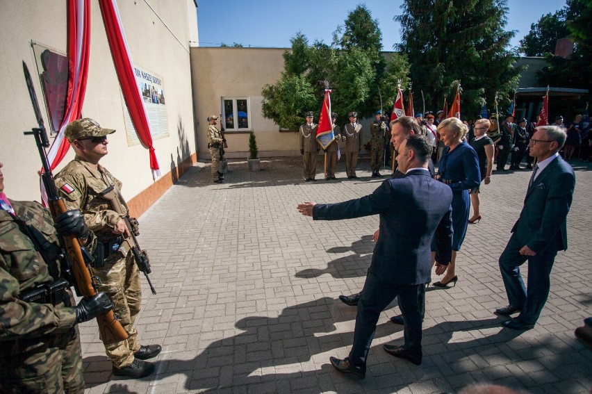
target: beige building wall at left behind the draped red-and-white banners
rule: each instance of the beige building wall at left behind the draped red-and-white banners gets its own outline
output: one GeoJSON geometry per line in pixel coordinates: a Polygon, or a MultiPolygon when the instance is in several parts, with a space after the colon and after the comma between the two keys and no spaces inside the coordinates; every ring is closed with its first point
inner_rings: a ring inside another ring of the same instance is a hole
{"type": "MultiPolygon", "coordinates": [[[[90,1],[90,63],[83,116],[117,129],[109,136],[109,154],[101,160],[123,184],[123,194],[142,213],[196,160],[193,124],[190,41],[197,42],[197,4],[194,0],[117,1],[133,63],[163,78],[169,136],[154,140],[163,176],[153,179],[148,150],[128,146],[124,100],[111,58],[98,1],[90,1]]],[[[22,71],[24,60],[46,126],[38,70],[31,41],[65,54],[67,3],[62,0],[0,1],[0,161],[4,164],[6,193],[13,199],[39,200],[40,158],[31,136],[23,131],[37,126],[22,71]]],[[[53,138],[51,138],[53,141],[53,138]]],[[[74,154],[70,149],[57,170],[74,154]]]]}

